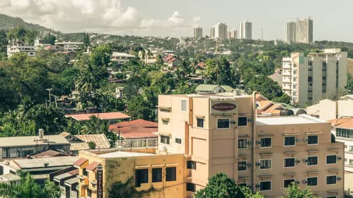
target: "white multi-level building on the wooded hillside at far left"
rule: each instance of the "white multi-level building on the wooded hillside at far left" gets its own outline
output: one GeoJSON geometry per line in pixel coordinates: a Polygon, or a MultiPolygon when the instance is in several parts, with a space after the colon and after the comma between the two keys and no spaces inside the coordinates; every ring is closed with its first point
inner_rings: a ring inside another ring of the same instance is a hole
{"type": "Polygon", "coordinates": [[[23,52],[26,53],[27,56],[34,57],[37,49],[29,43],[24,43],[23,41],[13,39],[7,46],[7,57],[11,57],[17,52],[23,52]]]}

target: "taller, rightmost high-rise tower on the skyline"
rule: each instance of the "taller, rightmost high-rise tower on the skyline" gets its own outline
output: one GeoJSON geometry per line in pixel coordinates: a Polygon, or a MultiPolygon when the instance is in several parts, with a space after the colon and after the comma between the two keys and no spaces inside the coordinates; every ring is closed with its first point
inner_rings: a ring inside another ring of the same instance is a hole
{"type": "Polygon", "coordinates": [[[313,19],[298,19],[295,40],[297,43],[313,43],[313,19]]]}

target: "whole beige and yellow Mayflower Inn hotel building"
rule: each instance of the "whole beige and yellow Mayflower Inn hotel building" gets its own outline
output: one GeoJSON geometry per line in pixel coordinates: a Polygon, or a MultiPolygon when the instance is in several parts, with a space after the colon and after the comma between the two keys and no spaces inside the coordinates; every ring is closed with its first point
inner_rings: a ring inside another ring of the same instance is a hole
{"type": "Polygon", "coordinates": [[[270,198],[291,182],[322,198],[343,198],[344,144],[332,142],[331,124],[307,115],[256,117],[254,98],[160,95],[158,149],[80,152],[80,196],[108,198],[113,183],[133,178],[137,191],[153,189],[149,198],[192,198],[224,172],[270,198]]]}

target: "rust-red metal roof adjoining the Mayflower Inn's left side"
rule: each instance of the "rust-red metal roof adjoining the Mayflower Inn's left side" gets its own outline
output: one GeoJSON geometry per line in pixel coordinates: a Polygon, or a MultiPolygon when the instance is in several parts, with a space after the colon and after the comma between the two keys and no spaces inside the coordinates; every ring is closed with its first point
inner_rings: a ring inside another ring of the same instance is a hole
{"type": "Polygon", "coordinates": [[[109,130],[125,138],[158,137],[158,123],[145,120],[134,120],[111,124],[109,130]]]}

